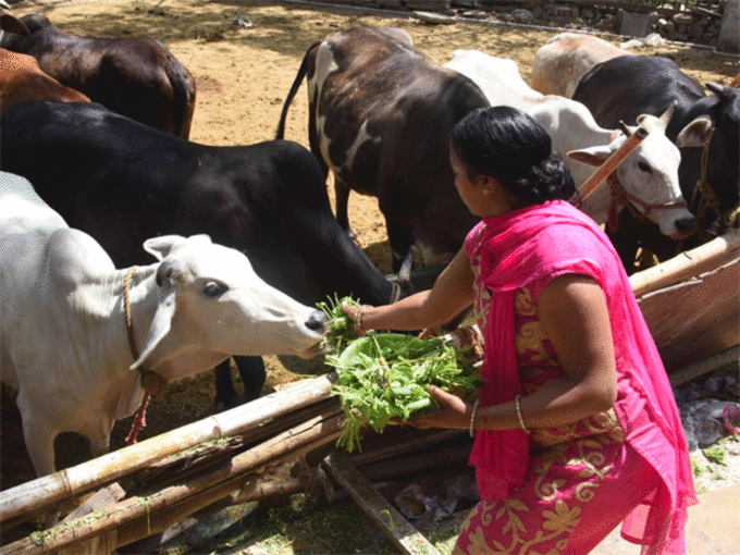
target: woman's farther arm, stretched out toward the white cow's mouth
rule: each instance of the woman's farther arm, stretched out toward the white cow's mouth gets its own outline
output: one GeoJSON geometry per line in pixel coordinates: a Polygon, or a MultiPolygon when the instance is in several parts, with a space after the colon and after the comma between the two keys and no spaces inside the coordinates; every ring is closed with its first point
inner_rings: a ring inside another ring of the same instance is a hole
{"type": "MultiPolygon", "coordinates": [[[[362,330],[421,330],[449,321],[474,300],[470,261],[460,250],[429,291],[422,291],[393,305],[363,307],[362,330]]],[[[355,321],[357,310],[343,306],[355,321]]]]}

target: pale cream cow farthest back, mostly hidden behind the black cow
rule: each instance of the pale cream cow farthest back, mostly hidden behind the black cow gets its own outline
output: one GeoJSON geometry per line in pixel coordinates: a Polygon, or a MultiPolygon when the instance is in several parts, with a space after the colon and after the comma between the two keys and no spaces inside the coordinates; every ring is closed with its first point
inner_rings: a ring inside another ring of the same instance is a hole
{"type": "Polygon", "coordinates": [[[534,54],[532,88],[543,95],[572,98],[591,67],[619,55],[636,54],[593,35],[560,33],[534,54]]]}

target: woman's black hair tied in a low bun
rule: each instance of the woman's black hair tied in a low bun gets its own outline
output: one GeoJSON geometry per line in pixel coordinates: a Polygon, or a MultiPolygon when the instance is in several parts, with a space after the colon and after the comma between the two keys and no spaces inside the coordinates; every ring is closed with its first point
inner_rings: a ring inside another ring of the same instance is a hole
{"type": "Polygon", "coordinates": [[[576,193],[570,171],[552,153],[547,132],[516,108],[473,110],[453,128],[451,145],[460,161],[497,178],[523,206],[568,200],[576,193]]]}

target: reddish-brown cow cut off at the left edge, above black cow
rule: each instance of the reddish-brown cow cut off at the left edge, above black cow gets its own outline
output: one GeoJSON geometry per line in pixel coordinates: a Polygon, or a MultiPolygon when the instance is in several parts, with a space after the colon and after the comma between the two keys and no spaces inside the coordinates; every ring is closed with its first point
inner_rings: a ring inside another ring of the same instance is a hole
{"type": "Polygon", "coordinates": [[[0,48],[0,112],[15,103],[34,100],[90,101],[82,92],[44,73],[33,55],[0,48]]]}

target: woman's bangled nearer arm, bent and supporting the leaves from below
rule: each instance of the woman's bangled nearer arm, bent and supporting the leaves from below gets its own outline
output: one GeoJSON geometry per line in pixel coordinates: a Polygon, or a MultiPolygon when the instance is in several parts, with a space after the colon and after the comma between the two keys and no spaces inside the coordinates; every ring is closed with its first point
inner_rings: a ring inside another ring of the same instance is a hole
{"type": "MultiPolygon", "coordinates": [[[[553,280],[538,300],[540,324],[568,377],[523,396],[520,408],[527,428],[576,422],[607,410],[617,396],[617,370],[606,297],[591,278],[567,274],[553,280]]],[[[495,385],[495,384],[494,384],[495,385]]],[[[414,420],[420,428],[468,428],[472,404],[430,387],[443,410],[414,420]]],[[[474,428],[519,428],[514,402],[479,407],[474,428]]]]}

